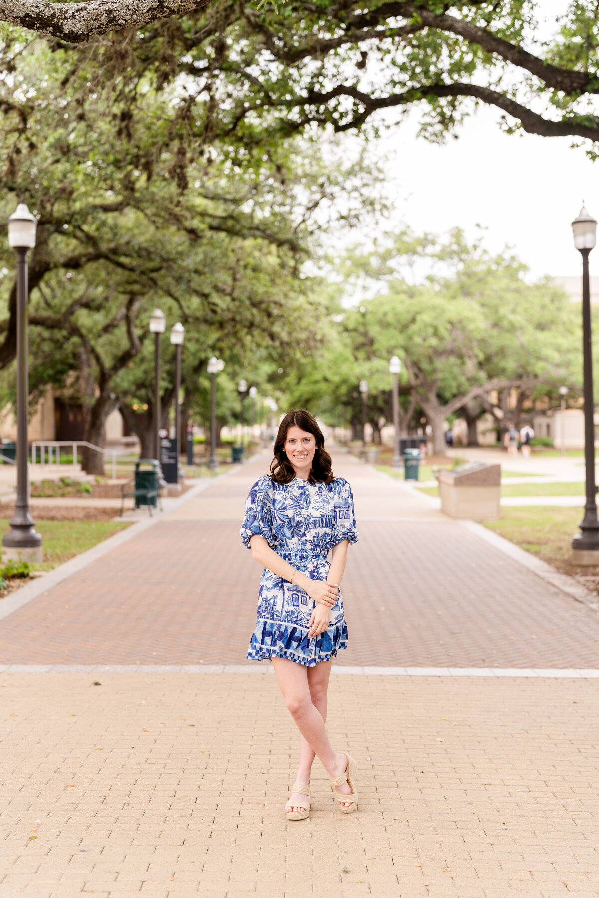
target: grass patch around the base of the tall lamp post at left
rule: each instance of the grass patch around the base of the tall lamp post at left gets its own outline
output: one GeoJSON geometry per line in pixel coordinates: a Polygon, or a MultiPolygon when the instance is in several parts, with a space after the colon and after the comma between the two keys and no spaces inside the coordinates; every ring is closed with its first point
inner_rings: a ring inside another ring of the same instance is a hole
{"type": "MultiPolygon", "coordinates": [[[[43,564],[35,565],[39,570],[51,570],[86,549],[91,549],[97,542],[105,540],[128,527],[126,521],[39,521],[36,530],[41,533],[44,548],[43,564]]],[[[6,519],[0,519],[0,528],[4,533],[9,528],[6,519]]]]}

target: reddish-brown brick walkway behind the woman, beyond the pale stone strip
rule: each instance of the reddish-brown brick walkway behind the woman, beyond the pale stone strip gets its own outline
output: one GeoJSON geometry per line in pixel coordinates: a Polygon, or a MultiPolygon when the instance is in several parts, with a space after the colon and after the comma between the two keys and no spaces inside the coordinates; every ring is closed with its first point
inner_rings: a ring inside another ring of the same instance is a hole
{"type": "MultiPolygon", "coordinates": [[[[599,615],[353,456],[341,665],[599,667],[599,615]]],[[[263,460],[0,624],[0,663],[243,664],[260,568],[237,535],[263,460]]]]}

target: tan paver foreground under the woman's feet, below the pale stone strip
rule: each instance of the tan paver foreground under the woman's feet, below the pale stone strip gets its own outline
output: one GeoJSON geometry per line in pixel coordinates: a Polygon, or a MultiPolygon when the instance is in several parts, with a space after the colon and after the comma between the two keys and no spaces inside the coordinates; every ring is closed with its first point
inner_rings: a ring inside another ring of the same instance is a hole
{"type": "Polygon", "coordinates": [[[99,681],[0,678],[0,898],[597,894],[597,681],[333,676],[360,808],[300,823],[274,676],[99,681]]]}

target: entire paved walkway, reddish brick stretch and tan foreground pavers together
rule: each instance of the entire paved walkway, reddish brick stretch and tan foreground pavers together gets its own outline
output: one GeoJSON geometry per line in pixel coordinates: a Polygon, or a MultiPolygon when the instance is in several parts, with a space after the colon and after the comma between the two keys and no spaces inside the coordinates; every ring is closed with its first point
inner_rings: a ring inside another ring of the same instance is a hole
{"type": "MultiPolygon", "coordinates": [[[[598,679],[348,672],[599,667],[596,612],[338,462],[361,539],[329,728],[358,813],[317,763],[311,819],[286,822],[298,740],[269,665],[4,672],[0,898],[597,898],[598,679]]],[[[0,621],[0,664],[243,664],[260,570],[237,529],[261,465],[0,621]]]]}

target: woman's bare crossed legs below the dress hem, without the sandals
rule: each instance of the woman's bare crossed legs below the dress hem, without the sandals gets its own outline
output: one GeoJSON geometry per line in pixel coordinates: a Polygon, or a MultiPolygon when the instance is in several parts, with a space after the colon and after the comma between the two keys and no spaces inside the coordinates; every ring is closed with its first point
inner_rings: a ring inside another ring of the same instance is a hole
{"type": "MultiPolygon", "coordinates": [[[[303,736],[303,743],[305,741],[307,745],[304,751],[304,744],[302,744],[300,752],[300,770],[303,779],[298,778],[297,781],[305,782],[305,785],[308,784],[315,755],[318,755],[331,778],[339,777],[346,770],[348,760],[344,754],[339,754],[334,750],[324,725],[331,662],[321,662],[320,665],[308,668],[306,665],[297,664],[288,658],[271,658],[271,661],[287,710],[294,718],[295,726],[303,736]],[[322,673],[318,673],[317,668],[322,665],[326,665],[326,667],[322,673]],[[309,679],[310,670],[316,672],[312,674],[312,689],[309,679]],[[320,700],[321,704],[322,694],[324,694],[324,716],[321,710],[314,705],[312,693],[315,698],[318,697],[317,700],[320,700]]],[[[351,790],[348,784],[344,783],[339,787],[339,791],[349,795],[351,790]]],[[[292,799],[300,801],[301,796],[294,793],[287,802],[287,807],[292,806],[292,799]]]]}

